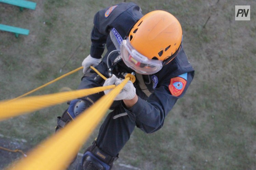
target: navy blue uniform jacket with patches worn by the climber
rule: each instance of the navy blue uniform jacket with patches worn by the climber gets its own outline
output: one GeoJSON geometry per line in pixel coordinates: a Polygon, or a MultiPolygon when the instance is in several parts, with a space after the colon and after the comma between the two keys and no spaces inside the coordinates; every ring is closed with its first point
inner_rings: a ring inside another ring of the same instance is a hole
{"type": "MultiPolygon", "coordinates": [[[[120,3],[96,13],[94,28],[91,32],[90,55],[94,58],[101,58],[106,46],[108,52],[99,66],[96,67],[103,75],[108,76],[106,58],[111,51],[116,49],[111,40],[110,31],[114,28],[118,32],[116,38],[117,42],[119,42],[118,39],[120,37],[125,38],[130,28],[142,16],[140,7],[134,3],[120,3]]],[[[111,62],[114,61],[115,57],[110,58],[111,62]]],[[[132,72],[123,61],[118,62],[116,65],[115,75],[122,72],[132,72]]],[[[184,96],[193,77],[194,69],[188,62],[183,48],[181,48],[175,59],[165,65],[158,73],[143,75],[148,90],[152,92],[149,97],[135,83],[136,93],[139,96],[138,102],[130,109],[127,109],[124,104],[122,105],[137,127],[146,133],[152,133],[162,127],[166,115],[170,112],[177,99],[184,96]],[[183,89],[179,90],[181,86],[183,86],[183,89]],[[177,95],[174,93],[175,90],[178,93],[182,93],[177,95]]]]}

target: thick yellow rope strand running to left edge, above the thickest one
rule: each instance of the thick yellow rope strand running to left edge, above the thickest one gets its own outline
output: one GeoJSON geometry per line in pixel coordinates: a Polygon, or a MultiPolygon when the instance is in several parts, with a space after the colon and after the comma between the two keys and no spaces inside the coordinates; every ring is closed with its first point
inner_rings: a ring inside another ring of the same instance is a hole
{"type": "Polygon", "coordinates": [[[16,99],[15,101],[10,102],[3,101],[0,102],[0,120],[14,117],[20,114],[25,114],[26,112],[39,110],[45,107],[54,106],[56,104],[113,88],[115,88],[115,85],[40,96],[30,96],[16,99]]]}

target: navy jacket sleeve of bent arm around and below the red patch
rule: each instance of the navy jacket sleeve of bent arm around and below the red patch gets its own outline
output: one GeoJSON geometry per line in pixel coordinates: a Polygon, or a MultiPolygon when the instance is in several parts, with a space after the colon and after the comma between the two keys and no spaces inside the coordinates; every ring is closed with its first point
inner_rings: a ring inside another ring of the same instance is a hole
{"type": "Polygon", "coordinates": [[[185,89],[180,96],[171,95],[168,88],[170,80],[166,80],[159,88],[155,89],[147,101],[138,97],[138,102],[130,109],[127,109],[123,102],[122,105],[137,127],[146,133],[153,133],[163,126],[165,117],[177,99],[184,96],[193,75],[194,73],[188,73],[185,89]]]}

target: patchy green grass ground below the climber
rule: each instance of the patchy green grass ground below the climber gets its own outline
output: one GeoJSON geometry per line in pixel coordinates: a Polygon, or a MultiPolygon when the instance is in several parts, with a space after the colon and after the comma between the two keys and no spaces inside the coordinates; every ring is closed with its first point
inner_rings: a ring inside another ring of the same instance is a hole
{"type": "MultiPolygon", "coordinates": [[[[121,1],[35,2],[36,10],[23,12],[0,4],[1,24],[30,30],[28,36],[19,38],[0,32],[1,100],[24,94],[80,67],[90,50],[94,14],[121,1]]],[[[143,170],[256,169],[255,12],[251,10],[251,21],[243,22],[233,19],[238,0],[217,4],[213,0],[134,2],[143,14],[166,10],[180,20],[184,49],[196,72],[164,126],[153,134],[136,128],[119,157],[143,170]]],[[[254,1],[248,4],[251,9],[256,5],[254,1]]],[[[62,87],[76,89],[81,77],[81,72],[75,73],[32,95],[56,93],[62,87]]],[[[66,108],[63,103],[1,121],[0,134],[26,139],[33,148],[54,133],[56,117],[66,108]]],[[[97,137],[98,129],[81,152],[97,137]]]]}

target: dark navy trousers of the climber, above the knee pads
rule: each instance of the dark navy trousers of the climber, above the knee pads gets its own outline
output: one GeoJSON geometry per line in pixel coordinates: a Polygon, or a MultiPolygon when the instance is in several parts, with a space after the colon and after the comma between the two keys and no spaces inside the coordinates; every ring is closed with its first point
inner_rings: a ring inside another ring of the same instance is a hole
{"type": "MultiPolygon", "coordinates": [[[[96,73],[85,75],[85,77],[82,78],[78,89],[102,86],[104,81],[101,81],[100,77],[96,77],[96,73]]],[[[89,97],[93,102],[96,102],[103,95],[104,92],[100,92],[86,97],[89,97]]],[[[122,114],[125,113],[125,110],[121,106],[121,101],[114,101],[110,109],[113,111],[108,114],[101,125],[96,144],[105,153],[112,157],[116,157],[119,151],[124,147],[125,143],[129,140],[136,124],[129,118],[129,115],[122,114]]]]}

